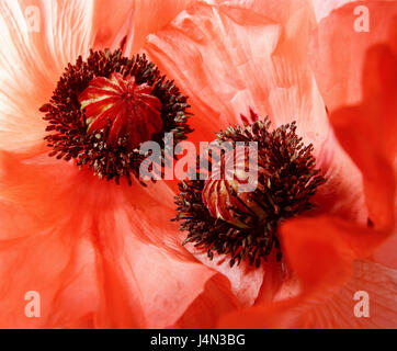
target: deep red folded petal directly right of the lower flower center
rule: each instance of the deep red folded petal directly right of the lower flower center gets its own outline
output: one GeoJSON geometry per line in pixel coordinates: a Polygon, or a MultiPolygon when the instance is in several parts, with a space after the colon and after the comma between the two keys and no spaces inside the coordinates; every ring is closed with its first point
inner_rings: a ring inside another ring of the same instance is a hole
{"type": "Polygon", "coordinates": [[[344,282],[351,262],[371,256],[389,235],[330,216],[287,220],[280,231],[286,260],[305,288],[344,282]]]}

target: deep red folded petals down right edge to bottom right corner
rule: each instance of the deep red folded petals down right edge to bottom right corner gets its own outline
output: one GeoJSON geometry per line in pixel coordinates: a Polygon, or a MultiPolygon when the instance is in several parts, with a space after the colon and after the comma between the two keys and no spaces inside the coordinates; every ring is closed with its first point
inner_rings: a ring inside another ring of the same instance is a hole
{"type": "Polygon", "coordinates": [[[396,327],[396,64],[389,46],[371,47],[363,72],[364,100],[330,116],[342,145],[362,169],[368,214],[374,220],[365,227],[322,215],[286,223],[281,235],[290,267],[302,282],[299,294],[276,304],[261,301],[251,309],[223,317],[220,326],[396,327]],[[373,136],[375,124],[379,134],[373,136]],[[370,152],[367,140],[372,141],[370,152]],[[309,257],[303,260],[304,254],[309,257]],[[366,307],[356,302],[360,298],[366,307]]]}

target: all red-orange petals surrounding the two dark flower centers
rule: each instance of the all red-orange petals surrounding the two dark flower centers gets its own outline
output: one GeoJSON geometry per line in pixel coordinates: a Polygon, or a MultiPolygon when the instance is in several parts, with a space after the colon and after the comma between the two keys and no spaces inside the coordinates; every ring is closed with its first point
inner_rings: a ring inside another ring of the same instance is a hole
{"type": "Polygon", "coordinates": [[[395,1],[1,1],[0,327],[396,328],[396,15],[395,1]],[[124,37],[189,95],[191,141],[250,106],[297,121],[327,182],[279,228],[287,270],[181,246],[177,181],[117,185],[47,156],[38,109],[64,68],[124,37]]]}

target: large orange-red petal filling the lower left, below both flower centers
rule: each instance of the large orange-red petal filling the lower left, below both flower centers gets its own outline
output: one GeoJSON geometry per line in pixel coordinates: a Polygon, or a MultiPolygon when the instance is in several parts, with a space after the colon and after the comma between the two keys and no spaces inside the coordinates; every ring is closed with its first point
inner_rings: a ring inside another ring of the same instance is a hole
{"type": "Polygon", "coordinates": [[[32,326],[167,327],[216,274],[181,246],[165,184],[150,185],[155,196],[45,155],[2,152],[1,169],[2,281],[15,280],[2,290],[3,325],[31,326],[15,308],[35,290],[45,316],[32,326]]]}

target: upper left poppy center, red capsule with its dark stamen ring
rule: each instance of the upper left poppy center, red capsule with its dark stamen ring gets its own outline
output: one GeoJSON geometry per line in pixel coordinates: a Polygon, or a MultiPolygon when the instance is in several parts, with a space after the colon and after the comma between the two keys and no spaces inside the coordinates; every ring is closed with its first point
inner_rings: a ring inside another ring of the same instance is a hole
{"type": "Polygon", "coordinates": [[[50,101],[39,110],[48,122],[45,137],[49,156],[75,159],[94,176],[132,184],[134,176],[143,185],[140,144],[156,141],[166,159],[165,134],[173,146],[186,138],[188,98],[167,80],[145,55],[132,58],[122,52],[93,52],[84,61],[78,57],[60,77],[50,101]]]}

